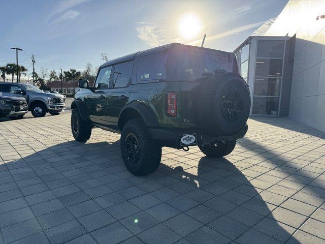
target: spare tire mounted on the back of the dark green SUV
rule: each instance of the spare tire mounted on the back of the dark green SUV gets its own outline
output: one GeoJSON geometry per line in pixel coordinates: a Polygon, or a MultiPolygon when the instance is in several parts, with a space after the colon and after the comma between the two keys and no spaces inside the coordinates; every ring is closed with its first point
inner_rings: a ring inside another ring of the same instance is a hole
{"type": "Polygon", "coordinates": [[[240,75],[223,72],[203,79],[197,114],[206,133],[211,136],[236,134],[246,124],[249,111],[250,93],[240,75]]]}

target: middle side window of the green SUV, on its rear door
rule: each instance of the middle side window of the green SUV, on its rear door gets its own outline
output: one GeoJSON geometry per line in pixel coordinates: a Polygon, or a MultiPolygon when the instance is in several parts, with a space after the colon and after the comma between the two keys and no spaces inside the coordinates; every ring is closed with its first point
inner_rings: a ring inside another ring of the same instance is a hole
{"type": "Polygon", "coordinates": [[[113,87],[125,87],[132,77],[133,61],[115,65],[113,87]]]}

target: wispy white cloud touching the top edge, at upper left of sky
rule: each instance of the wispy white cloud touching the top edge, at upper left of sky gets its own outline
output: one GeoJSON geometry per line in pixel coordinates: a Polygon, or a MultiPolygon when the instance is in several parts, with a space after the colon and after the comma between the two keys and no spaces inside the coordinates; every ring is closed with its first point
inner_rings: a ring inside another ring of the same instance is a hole
{"type": "Polygon", "coordinates": [[[90,0],[61,0],[53,11],[48,14],[46,20],[52,23],[58,23],[64,20],[74,19],[80,12],[73,10],[73,8],[88,1],[90,0]]]}

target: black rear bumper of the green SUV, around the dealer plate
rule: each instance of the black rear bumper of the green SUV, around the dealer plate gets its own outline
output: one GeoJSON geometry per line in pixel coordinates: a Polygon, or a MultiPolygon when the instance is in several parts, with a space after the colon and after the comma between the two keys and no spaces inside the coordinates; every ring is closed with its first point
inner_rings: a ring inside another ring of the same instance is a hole
{"type": "Polygon", "coordinates": [[[231,136],[209,136],[202,133],[198,128],[191,129],[163,129],[163,128],[149,128],[149,133],[151,138],[157,141],[161,146],[168,146],[174,148],[182,148],[183,146],[187,146],[186,144],[182,144],[180,142],[181,135],[195,135],[196,141],[188,146],[201,145],[209,142],[213,142],[216,140],[236,140],[245,136],[248,130],[247,124],[236,134],[231,136]]]}

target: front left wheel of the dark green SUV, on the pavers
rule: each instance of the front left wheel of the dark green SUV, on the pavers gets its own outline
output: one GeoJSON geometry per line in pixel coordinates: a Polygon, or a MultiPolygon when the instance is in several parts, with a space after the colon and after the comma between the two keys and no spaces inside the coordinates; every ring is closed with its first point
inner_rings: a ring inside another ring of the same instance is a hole
{"type": "Polygon", "coordinates": [[[72,110],[71,113],[71,131],[76,141],[87,141],[91,135],[91,124],[81,118],[78,109],[72,110]]]}

